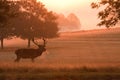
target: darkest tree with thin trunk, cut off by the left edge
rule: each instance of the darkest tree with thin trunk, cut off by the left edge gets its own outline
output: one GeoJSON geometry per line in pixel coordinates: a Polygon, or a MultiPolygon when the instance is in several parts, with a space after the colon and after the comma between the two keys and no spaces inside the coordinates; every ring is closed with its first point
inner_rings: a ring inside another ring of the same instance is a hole
{"type": "Polygon", "coordinates": [[[15,7],[13,1],[0,0],[0,40],[1,40],[1,49],[3,49],[4,38],[9,38],[12,34],[12,28],[8,27],[8,21],[10,18],[15,17],[15,10],[12,10],[15,7]]]}

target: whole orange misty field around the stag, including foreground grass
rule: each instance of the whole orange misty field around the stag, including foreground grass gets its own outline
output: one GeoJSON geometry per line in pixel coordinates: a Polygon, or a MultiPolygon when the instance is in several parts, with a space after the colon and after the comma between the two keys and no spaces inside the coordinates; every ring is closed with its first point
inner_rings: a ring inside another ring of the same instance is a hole
{"type": "Polygon", "coordinates": [[[120,80],[120,29],[61,33],[34,63],[14,62],[27,45],[16,40],[0,50],[0,80],[120,80]]]}

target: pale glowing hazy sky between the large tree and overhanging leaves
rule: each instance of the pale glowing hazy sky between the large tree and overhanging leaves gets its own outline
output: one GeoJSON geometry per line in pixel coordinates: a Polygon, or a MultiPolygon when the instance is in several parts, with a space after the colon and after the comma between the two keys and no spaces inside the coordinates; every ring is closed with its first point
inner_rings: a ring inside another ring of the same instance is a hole
{"type": "Polygon", "coordinates": [[[68,15],[74,13],[79,17],[81,29],[99,28],[97,23],[97,9],[91,9],[90,4],[99,0],[40,0],[45,7],[57,13],[68,15]]]}

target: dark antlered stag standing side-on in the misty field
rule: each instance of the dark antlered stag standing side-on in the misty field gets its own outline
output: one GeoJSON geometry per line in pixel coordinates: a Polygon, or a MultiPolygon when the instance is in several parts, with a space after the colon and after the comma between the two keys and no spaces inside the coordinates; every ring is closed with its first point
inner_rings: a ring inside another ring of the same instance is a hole
{"type": "Polygon", "coordinates": [[[15,54],[17,56],[17,58],[15,59],[15,62],[19,62],[21,58],[26,59],[26,58],[30,58],[33,62],[34,59],[38,56],[41,56],[41,54],[43,52],[46,51],[46,40],[43,38],[44,44],[43,45],[38,45],[34,39],[32,40],[32,42],[38,46],[38,49],[18,49],[15,51],[15,54]]]}

